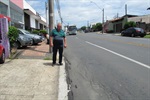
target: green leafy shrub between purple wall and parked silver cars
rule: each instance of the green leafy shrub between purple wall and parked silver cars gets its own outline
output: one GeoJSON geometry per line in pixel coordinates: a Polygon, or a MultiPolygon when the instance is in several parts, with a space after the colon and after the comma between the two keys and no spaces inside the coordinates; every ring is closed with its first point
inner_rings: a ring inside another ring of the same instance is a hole
{"type": "Polygon", "coordinates": [[[8,31],[8,38],[11,47],[14,46],[14,43],[17,41],[18,36],[19,36],[18,29],[14,26],[10,26],[8,31]]]}

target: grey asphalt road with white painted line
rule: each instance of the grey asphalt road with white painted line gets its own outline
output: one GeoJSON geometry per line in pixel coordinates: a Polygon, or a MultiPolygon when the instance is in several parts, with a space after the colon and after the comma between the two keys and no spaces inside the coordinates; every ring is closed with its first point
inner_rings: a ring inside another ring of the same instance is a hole
{"type": "Polygon", "coordinates": [[[150,100],[150,40],[110,34],[68,36],[70,100],[150,100]]]}

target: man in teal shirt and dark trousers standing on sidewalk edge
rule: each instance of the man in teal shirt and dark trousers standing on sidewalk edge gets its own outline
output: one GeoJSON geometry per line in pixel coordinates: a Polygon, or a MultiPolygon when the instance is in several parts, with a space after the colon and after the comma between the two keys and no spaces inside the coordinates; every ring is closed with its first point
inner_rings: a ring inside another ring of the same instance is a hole
{"type": "Polygon", "coordinates": [[[56,64],[57,51],[59,50],[59,64],[62,63],[63,48],[67,47],[66,34],[62,30],[61,23],[57,24],[57,28],[53,29],[50,34],[50,46],[53,47],[53,65],[56,64]]]}

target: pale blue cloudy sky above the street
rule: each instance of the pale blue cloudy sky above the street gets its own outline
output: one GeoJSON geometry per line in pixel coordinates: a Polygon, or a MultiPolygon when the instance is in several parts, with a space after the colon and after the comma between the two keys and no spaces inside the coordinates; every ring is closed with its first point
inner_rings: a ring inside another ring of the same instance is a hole
{"type": "MultiPolygon", "coordinates": [[[[41,16],[46,18],[45,2],[48,0],[26,0],[41,16]]],[[[78,28],[90,23],[102,23],[102,9],[104,9],[104,20],[112,20],[115,16],[127,14],[148,15],[150,0],[59,0],[61,16],[64,25],[76,25],[78,28]]],[[[61,22],[58,16],[54,0],[54,22],[61,22]]]]}

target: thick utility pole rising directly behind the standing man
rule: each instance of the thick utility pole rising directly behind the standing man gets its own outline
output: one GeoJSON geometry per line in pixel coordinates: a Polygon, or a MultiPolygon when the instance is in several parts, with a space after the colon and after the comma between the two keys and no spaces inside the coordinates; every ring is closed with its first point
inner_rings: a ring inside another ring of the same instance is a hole
{"type": "MultiPolygon", "coordinates": [[[[51,31],[54,28],[54,0],[48,0],[48,4],[49,4],[49,41],[50,41],[50,34],[51,31]]],[[[49,42],[49,52],[52,53],[52,48],[50,46],[50,42],[49,42]]]]}

